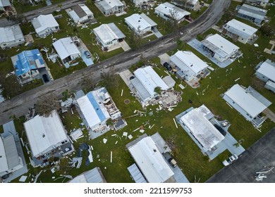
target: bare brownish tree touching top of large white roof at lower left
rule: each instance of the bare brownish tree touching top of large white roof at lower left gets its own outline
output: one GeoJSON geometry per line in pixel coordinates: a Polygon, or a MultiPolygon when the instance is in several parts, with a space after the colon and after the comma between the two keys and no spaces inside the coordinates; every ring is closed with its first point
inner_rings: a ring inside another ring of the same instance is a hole
{"type": "Polygon", "coordinates": [[[51,114],[52,110],[59,110],[60,108],[60,101],[57,99],[55,94],[43,96],[35,105],[37,114],[44,115],[46,117],[51,114]]]}

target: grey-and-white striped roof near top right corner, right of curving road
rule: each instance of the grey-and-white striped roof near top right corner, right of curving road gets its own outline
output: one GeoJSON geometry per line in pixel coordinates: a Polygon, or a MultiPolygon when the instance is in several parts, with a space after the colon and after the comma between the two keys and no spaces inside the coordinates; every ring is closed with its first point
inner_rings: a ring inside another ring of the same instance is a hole
{"type": "Polygon", "coordinates": [[[264,20],[265,15],[267,15],[267,11],[262,8],[257,8],[255,6],[250,6],[247,4],[243,4],[238,10],[238,13],[250,16],[252,18],[257,18],[259,20],[264,20]]]}

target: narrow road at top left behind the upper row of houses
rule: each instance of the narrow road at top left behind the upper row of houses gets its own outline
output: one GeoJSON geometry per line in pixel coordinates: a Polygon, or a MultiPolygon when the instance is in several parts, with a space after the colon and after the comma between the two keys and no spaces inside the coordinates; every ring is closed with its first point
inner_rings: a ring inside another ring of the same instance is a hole
{"type": "MultiPolygon", "coordinates": [[[[68,0],[64,1],[61,6],[61,9],[71,8],[71,6],[74,6],[76,4],[85,3],[85,0],[68,0]]],[[[51,6],[44,6],[43,8],[35,9],[33,11],[29,11],[26,13],[23,13],[23,15],[27,18],[27,20],[32,20],[32,18],[35,18],[41,14],[49,14],[53,11],[59,10],[59,4],[52,4],[51,6]]],[[[0,20],[0,27],[6,27],[10,25],[16,25],[17,23],[14,23],[13,21],[6,20],[6,18],[2,18],[0,20]]]]}

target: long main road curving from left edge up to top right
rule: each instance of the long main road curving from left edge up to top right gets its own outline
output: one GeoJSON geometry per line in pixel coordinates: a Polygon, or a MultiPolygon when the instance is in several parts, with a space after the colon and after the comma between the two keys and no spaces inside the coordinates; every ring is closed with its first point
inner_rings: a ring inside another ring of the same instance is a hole
{"type": "Polygon", "coordinates": [[[230,0],[214,0],[200,18],[194,20],[193,23],[185,25],[181,30],[148,42],[140,49],[118,54],[106,61],[78,70],[71,75],[54,80],[41,87],[31,89],[8,101],[0,103],[0,125],[8,122],[11,115],[16,115],[16,117],[25,115],[28,108],[32,107],[37,103],[39,98],[47,94],[54,93],[57,96],[61,96],[61,93],[66,91],[66,89],[69,91],[80,89],[80,81],[85,76],[92,77],[94,82],[98,82],[101,78],[101,73],[110,72],[110,69],[116,70],[116,72],[126,70],[131,65],[138,63],[140,56],[149,59],[166,53],[166,51],[171,49],[175,49],[178,38],[181,38],[183,41],[188,41],[196,37],[197,34],[209,30],[212,25],[215,25],[230,5],[230,2],[230,0]],[[183,32],[183,34],[181,34],[181,32],[183,32]]]}

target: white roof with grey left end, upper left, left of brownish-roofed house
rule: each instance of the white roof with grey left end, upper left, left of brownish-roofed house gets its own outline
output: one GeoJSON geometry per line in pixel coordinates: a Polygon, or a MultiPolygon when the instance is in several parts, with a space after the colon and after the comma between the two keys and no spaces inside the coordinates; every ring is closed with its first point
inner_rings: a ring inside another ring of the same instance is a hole
{"type": "Polygon", "coordinates": [[[32,25],[35,27],[35,32],[39,34],[39,32],[47,30],[47,28],[59,26],[59,23],[56,22],[52,14],[48,14],[39,15],[37,18],[32,19],[32,25]]]}

